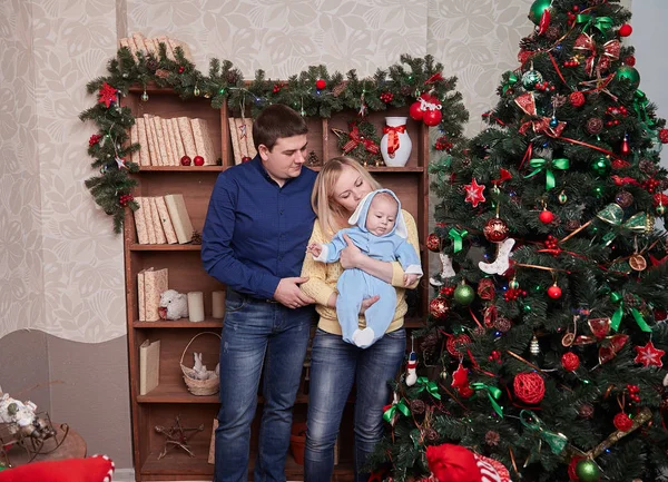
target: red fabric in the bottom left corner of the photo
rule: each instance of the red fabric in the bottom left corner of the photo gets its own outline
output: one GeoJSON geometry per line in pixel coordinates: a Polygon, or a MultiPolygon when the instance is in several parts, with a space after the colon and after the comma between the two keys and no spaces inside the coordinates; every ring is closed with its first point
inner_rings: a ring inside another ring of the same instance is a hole
{"type": "Polygon", "coordinates": [[[0,482],[109,482],[114,462],[106,456],[32,462],[0,472],[0,482]],[[105,479],[106,478],[106,479],[105,479]]]}

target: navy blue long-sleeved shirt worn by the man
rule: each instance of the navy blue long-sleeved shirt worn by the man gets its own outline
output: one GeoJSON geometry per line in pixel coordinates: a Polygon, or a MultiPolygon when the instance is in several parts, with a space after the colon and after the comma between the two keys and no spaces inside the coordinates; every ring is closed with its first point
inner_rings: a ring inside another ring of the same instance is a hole
{"type": "Polygon", "coordinates": [[[315,177],[303,167],[281,187],[259,156],[220,173],[202,234],[207,273],[258,298],[273,298],[281,278],[299,276],[315,220],[315,177]]]}

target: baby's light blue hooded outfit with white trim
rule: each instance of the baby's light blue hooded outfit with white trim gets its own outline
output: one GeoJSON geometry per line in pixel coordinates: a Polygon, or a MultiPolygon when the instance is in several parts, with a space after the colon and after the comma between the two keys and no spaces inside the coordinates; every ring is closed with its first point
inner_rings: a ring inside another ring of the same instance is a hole
{"type": "MultiPolygon", "coordinates": [[[[352,242],[362,253],[382,262],[399,260],[406,274],[422,275],[420,257],[413,246],[406,240],[407,230],[403,215],[401,213],[401,203],[394,193],[390,189],[377,189],[364,197],[360,201],[357,209],[348,219],[350,228],[341,229],[331,243],[323,245],[323,250],[315,260],[324,263],[334,263],[338,260],[341,250],[347,246],[343,235],[348,235],[352,242]],[[383,236],[376,236],[366,229],[366,214],[373,197],[379,193],[387,193],[396,199],[399,209],[394,227],[390,233],[383,236]]],[[[362,348],[373,345],[384,334],[396,311],[396,289],[389,283],[372,276],[362,269],[345,269],[338,277],[336,284],[338,297],[336,298],[336,315],[341,324],[343,340],[355,344],[362,348]],[[362,301],[379,295],[380,299],[364,312],[366,319],[366,333],[363,336],[365,342],[356,343],[353,336],[358,336],[358,317],[362,301]],[[370,332],[373,331],[373,333],[370,332]],[[373,337],[371,337],[371,334],[373,337]],[[371,342],[369,342],[371,340],[371,342]]]]}

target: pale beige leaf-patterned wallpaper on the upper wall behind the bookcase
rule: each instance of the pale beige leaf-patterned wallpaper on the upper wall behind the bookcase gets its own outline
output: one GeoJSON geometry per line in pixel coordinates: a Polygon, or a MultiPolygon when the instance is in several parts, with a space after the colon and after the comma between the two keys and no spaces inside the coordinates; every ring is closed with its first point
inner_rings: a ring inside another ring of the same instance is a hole
{"type": "Polygon", "coordinates": [[[469,134],[494,102],[531,0],[3,0],[0,2],[0,337],[39,328],[97,343],[122,336],[120,236],[84,186],[95,101],[117,39],[141,31],[186,41],[244,75],[285,78],[326,63],[361,76],[432,53],[460,78],[469,134]]]}

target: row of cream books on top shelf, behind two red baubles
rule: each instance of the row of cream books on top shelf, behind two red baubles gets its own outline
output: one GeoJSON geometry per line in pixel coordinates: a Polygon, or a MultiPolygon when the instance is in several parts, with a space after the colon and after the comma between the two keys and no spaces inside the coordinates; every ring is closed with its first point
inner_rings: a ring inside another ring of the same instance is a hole
{"type": "Polygon", "coordinates": [[[140,146],[130,154],[130,160],[139,166],[180,166],[185,156],[190,160],[202,157],[203,166],[217,163],[206,119],[145,114],[130,127],[130,142],[140,146]]]}

